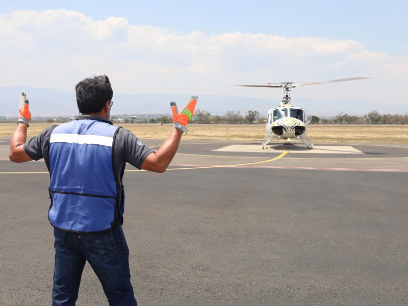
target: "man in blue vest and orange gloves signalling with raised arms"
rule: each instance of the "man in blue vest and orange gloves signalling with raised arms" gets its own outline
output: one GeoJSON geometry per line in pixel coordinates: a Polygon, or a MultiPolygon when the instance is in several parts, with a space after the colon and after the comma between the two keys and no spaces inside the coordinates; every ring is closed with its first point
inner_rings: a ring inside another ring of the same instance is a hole
{"type": "Polygon", "coordinates": [[[106,75],[75,86],[80,116],[47,127],[27,141],[31,113],[20,96],[20,116],[10,141],[10,160],[44,159],[50,173],[49,222],[54,226],[53,305],[74,305],[86,261],[98,276],[110,305],[137,305],[130,282],[129,249],[121,224],[122,177],[126,163],[164,172],[173,159],[197,97],[182,112],[170,104],[174,128],[154,151],[133,133],[109,121],[113,91],[106,75]]]}

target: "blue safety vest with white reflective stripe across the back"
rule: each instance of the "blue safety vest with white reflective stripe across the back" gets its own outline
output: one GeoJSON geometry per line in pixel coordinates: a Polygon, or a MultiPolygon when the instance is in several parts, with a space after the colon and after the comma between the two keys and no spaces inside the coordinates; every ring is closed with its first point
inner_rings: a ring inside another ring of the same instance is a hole
{"type": "Polygon", "coordinates": [[[49,139],[49,222],[61,230],[101,232],[122,222],[123,187],[115,180],[119,127],[81,119],[57,126],[49,139]]]}

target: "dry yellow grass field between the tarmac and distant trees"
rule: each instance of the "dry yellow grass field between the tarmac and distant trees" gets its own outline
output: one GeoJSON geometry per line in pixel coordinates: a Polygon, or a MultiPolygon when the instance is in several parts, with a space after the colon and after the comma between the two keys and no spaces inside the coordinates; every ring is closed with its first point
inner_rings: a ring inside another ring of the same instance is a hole
{"type": "MultiPolygon", "coordinates": [[[[50,123],[32,123],[28,137],[41,132],[50,123]]],[[[9,137],[15,124],[0,124],[0,136],[9,137]]],[[[141,139],[165,139],[172,124],[121,124],[141,139]]],[[[408,143],[408,125],[309,125],[309,137],[318,142],[408,143]]],[[[262,141],[265,125],[201,125],[190,124],[183,139],[257,140],[262,141]]]]}

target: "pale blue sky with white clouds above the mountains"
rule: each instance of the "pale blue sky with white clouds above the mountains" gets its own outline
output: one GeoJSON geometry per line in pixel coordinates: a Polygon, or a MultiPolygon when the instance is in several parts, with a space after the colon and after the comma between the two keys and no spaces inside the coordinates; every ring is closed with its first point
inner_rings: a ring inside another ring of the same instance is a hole
{"type": "MultiPolygon", "coordinates": [[[[0,1],[0,86],[408,104],[408,1],[0,1]]],[[[397,111],[391,113],[398,113],[397,111]]]]}

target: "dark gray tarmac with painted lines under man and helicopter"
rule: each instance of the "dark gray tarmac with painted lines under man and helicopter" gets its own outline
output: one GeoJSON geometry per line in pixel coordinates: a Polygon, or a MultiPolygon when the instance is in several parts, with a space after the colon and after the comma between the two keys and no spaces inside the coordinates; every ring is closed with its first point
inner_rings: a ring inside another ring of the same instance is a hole
{"type": "MultiPolygon", "coordinates": [[[[0,298],[49,305],[49,175],[42,160],[10,162],[9,140],[0,138],[0,298]]],[[[408,144],[182,140],[165,173],[126,167],[138,303],[408,304],[407,182],[408,144]]],[[[108,305],[88,264],[77,305],[108,305]]]]}

